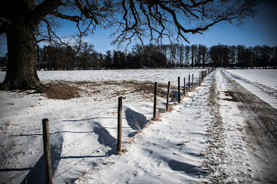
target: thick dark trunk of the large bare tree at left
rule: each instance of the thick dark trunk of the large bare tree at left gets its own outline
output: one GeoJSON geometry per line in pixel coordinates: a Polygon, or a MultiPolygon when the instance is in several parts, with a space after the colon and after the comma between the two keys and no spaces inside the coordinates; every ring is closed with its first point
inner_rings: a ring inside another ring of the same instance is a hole
{"type": "Polygon", "coordinates": [[[7,31],[8,66],[1,88],[40,89],[42,87],[37,77],[35,46],[35,30],[33,26],[13,26],[7,31]]]}

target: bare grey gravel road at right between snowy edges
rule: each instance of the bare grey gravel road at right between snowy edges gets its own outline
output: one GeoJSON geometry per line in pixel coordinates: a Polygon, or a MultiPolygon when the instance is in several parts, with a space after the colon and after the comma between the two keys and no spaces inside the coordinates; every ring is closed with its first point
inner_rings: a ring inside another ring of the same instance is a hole
{"type": "Polygon", "coordinates": [[[253,177],[258,183],[277,183],[277,110],[220,71],[228,99],[236,102],[244,123],[238,122],[249,155],[253,177]]]}

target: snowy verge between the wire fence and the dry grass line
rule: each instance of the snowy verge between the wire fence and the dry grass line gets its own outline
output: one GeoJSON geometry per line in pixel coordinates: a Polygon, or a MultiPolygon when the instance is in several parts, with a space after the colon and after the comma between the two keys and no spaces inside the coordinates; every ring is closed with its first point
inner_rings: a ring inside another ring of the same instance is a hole
{"type": "Polygon", "coordinates": [[[121,156],[109,156],[77,183],[200,183],[208,181],[202,166],[211,114],[207,106],[213,75],[181,100],[161,121],[143,130],[121,156]]]}

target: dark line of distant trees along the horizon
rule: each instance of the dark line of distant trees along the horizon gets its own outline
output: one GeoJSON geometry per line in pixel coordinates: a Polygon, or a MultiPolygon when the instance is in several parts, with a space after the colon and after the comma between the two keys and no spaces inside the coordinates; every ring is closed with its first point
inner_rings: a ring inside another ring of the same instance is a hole
{"type": "MultiPolygon", "coordinates": [[[[53,44],[37,47],[36,50],[37,70],[277,66],[277,46],[267,45],[246,47],[218,44],[208,48],[202,44],[136,44],[132,52],[107,50],[102,54],[94,49],[93,44],[82,42],[79,46],[53,44]]],[[[7,62],[8,55],[0,57],[1,68],[7,62]]]]}

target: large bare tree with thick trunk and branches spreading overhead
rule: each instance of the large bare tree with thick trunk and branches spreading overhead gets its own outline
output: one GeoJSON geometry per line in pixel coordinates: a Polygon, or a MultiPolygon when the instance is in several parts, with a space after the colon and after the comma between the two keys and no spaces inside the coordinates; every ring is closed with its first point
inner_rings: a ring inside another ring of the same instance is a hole
{"type": "Polygon", "coordinates": [[[220,21],[242,24],[256,12],[257,0],[15,0],[0,1],[0,34],[6,33],[8,67],[2,89],[41,89],[37,77],[37,42],[62,42],[55,23],[67,19],[76,23],[81,39],[96,26],[113,28],[114,44],[184,39],[186,33],[203,33],[220,21]],[[176,34],[177,33],[177,34],[176,34]]]}

